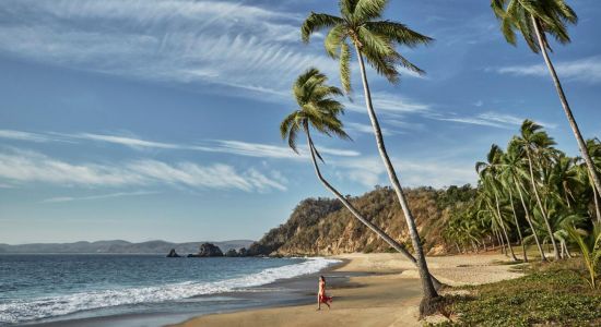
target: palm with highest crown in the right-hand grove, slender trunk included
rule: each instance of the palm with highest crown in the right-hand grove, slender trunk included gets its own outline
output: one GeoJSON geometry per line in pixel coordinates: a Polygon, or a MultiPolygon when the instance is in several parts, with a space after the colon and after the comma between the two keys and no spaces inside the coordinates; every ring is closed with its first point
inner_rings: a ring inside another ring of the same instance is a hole
{"type": "Polygon", "coordinates": [[[532,192],[534,193],[534,197],[537,198],[537,204],[539,206],[541,216],[544,220],[546,231],[549,233],[549,238],[551,239],[551,243],[553,244],[553,255],[555,256],[555,259],[558,259],[559,251],[557,249],[557,244],[555,243],[555,238],[553,237],[553,229],[551,228],[551,225],[549,222],[546,210],[543,206],[541,196],[539,194],[539,186],[537,185],[537,181],[534,179],[533,156],[537,156],[539,161],[542,160],[543,153],[545,150],[549,150],[549,148],[551,148],[555,144],[553,138],[551,138],[544,131],[541,131],[541,130],[542,130],[541,125],[534,123],[531,120],[525,120],[520,128],[520,136],[516,137],[515,140],[516,140],[516,143],[523,150],[523,153],[526,153],[532,192]]]}

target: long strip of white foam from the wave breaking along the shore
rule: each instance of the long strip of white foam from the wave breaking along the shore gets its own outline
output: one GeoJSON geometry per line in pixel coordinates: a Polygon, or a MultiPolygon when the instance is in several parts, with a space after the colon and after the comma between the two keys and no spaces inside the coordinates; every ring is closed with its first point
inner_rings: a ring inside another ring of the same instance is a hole
{"type": "Polygon", "coordinates": [[[335,263],[339,263],[339,261],[314,257],[307,258],[306,262],[299,264],[269,268],[257,274],[221,281],[187,281],[157,287],[103,290],[54,298],[39,298],[30,301],[13,301],[0,304],[0,324],[23,323],[91,308],[174,301],[203,294],[237,291],[249,287],[267,284],[279,279],[314,274],[335,263]]]}

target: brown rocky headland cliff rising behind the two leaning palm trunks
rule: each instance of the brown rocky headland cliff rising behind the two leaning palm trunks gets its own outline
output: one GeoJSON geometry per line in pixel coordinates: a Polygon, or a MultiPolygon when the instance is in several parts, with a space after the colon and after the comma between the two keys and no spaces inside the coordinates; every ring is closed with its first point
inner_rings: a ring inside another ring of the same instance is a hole
{"type": "MultiPolygon", "coordinates": [[[[405,190],[411,211],[426,252],[441,254],[446,244],[441,227],[452,207],[473,194],[469,185],[447,190],[420,187],[405,190]]],[[[377,187],[351,202],[367,219],[411,249],[404,216],[394,192],[377,187]]],[[[338,201],[303,201],[288,221],[270,230],[250,246],[252,254],[331,255],[351,252],[386,252],[390,246],[356,220],[338,201]]]]}

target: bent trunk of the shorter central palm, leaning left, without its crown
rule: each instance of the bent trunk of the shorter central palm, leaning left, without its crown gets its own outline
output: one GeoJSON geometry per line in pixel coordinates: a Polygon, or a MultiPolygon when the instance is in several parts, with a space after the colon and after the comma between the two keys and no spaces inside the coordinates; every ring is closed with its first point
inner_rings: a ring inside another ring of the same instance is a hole
{"type": "MultiPolygon", "coordinates": [[[[411,255],[411,253],[409,253],[409,251],[406,251],[406,249],[403,244],[400,244],[399,242],[394,241],[392,238],[390,238],[388,234],[386,234],[380,228],[378,228],[377,226],[372,223],[369,220],[367,220],[365,217],[363,217],[357,211],[357,209],[337,189],[334,189],[323,178],[323,175],[321,174],[321,171],[319,170],[319,165],[317,165],[317,158],[316,158],[316,155],[315,155],[316,149],[315,149],[313,140],[310,137],[308,129],[306,131],[307,131],[307,142],[308,142],[308,145],[309,145],[309,150],[311,153],[313,165],[314,165],[315,172],[316,172],[317,178],[319,179],[319,181],[321,181],[321,183],[326,186],[326,189],[328,189],[340,202],[342,202],[342,204],[351,211],[351,214],[353,214],[353,216],[355,216],[355,218],[357,218],[363,225],[367,226],[367,228],[369,228],[372,231],[374,231],[376,234],[378,234],[378,237],[380,237],[386,243],[388,243],[394,250],[397,250],[402,255],[404,255],[410,262],[417,265],[417,261],[415,259],[415,257],[413,257],[411,255]]],[[[417,266],[417,268],[419,268],[419,266],[417,266]]],[[[438,279],[436,279],[434,276],[429,275],[428,279],[432,279],[432,283],[437,289],[441,287],[440,281],[438,281],[438,279]]]]}

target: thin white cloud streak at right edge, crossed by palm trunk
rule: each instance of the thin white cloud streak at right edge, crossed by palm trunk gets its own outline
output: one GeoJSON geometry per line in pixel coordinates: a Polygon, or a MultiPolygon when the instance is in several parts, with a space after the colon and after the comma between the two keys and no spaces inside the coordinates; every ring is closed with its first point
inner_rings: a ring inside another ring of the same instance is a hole
{"type": "MultiPolygon", "coordinates": [[[[555,69],[557,70],[557,74],[561,78],[591,84],[601,82],[601,56],[593,56],[571,61],[558,61],[555,63],[555,69]]],[[[530,65],[511,65],[488,69],[488,71],[490,70],[493,70],[500,74],[509,74],[515,76],[550,76],[549,70],[544,63],[530,65]]]]}

